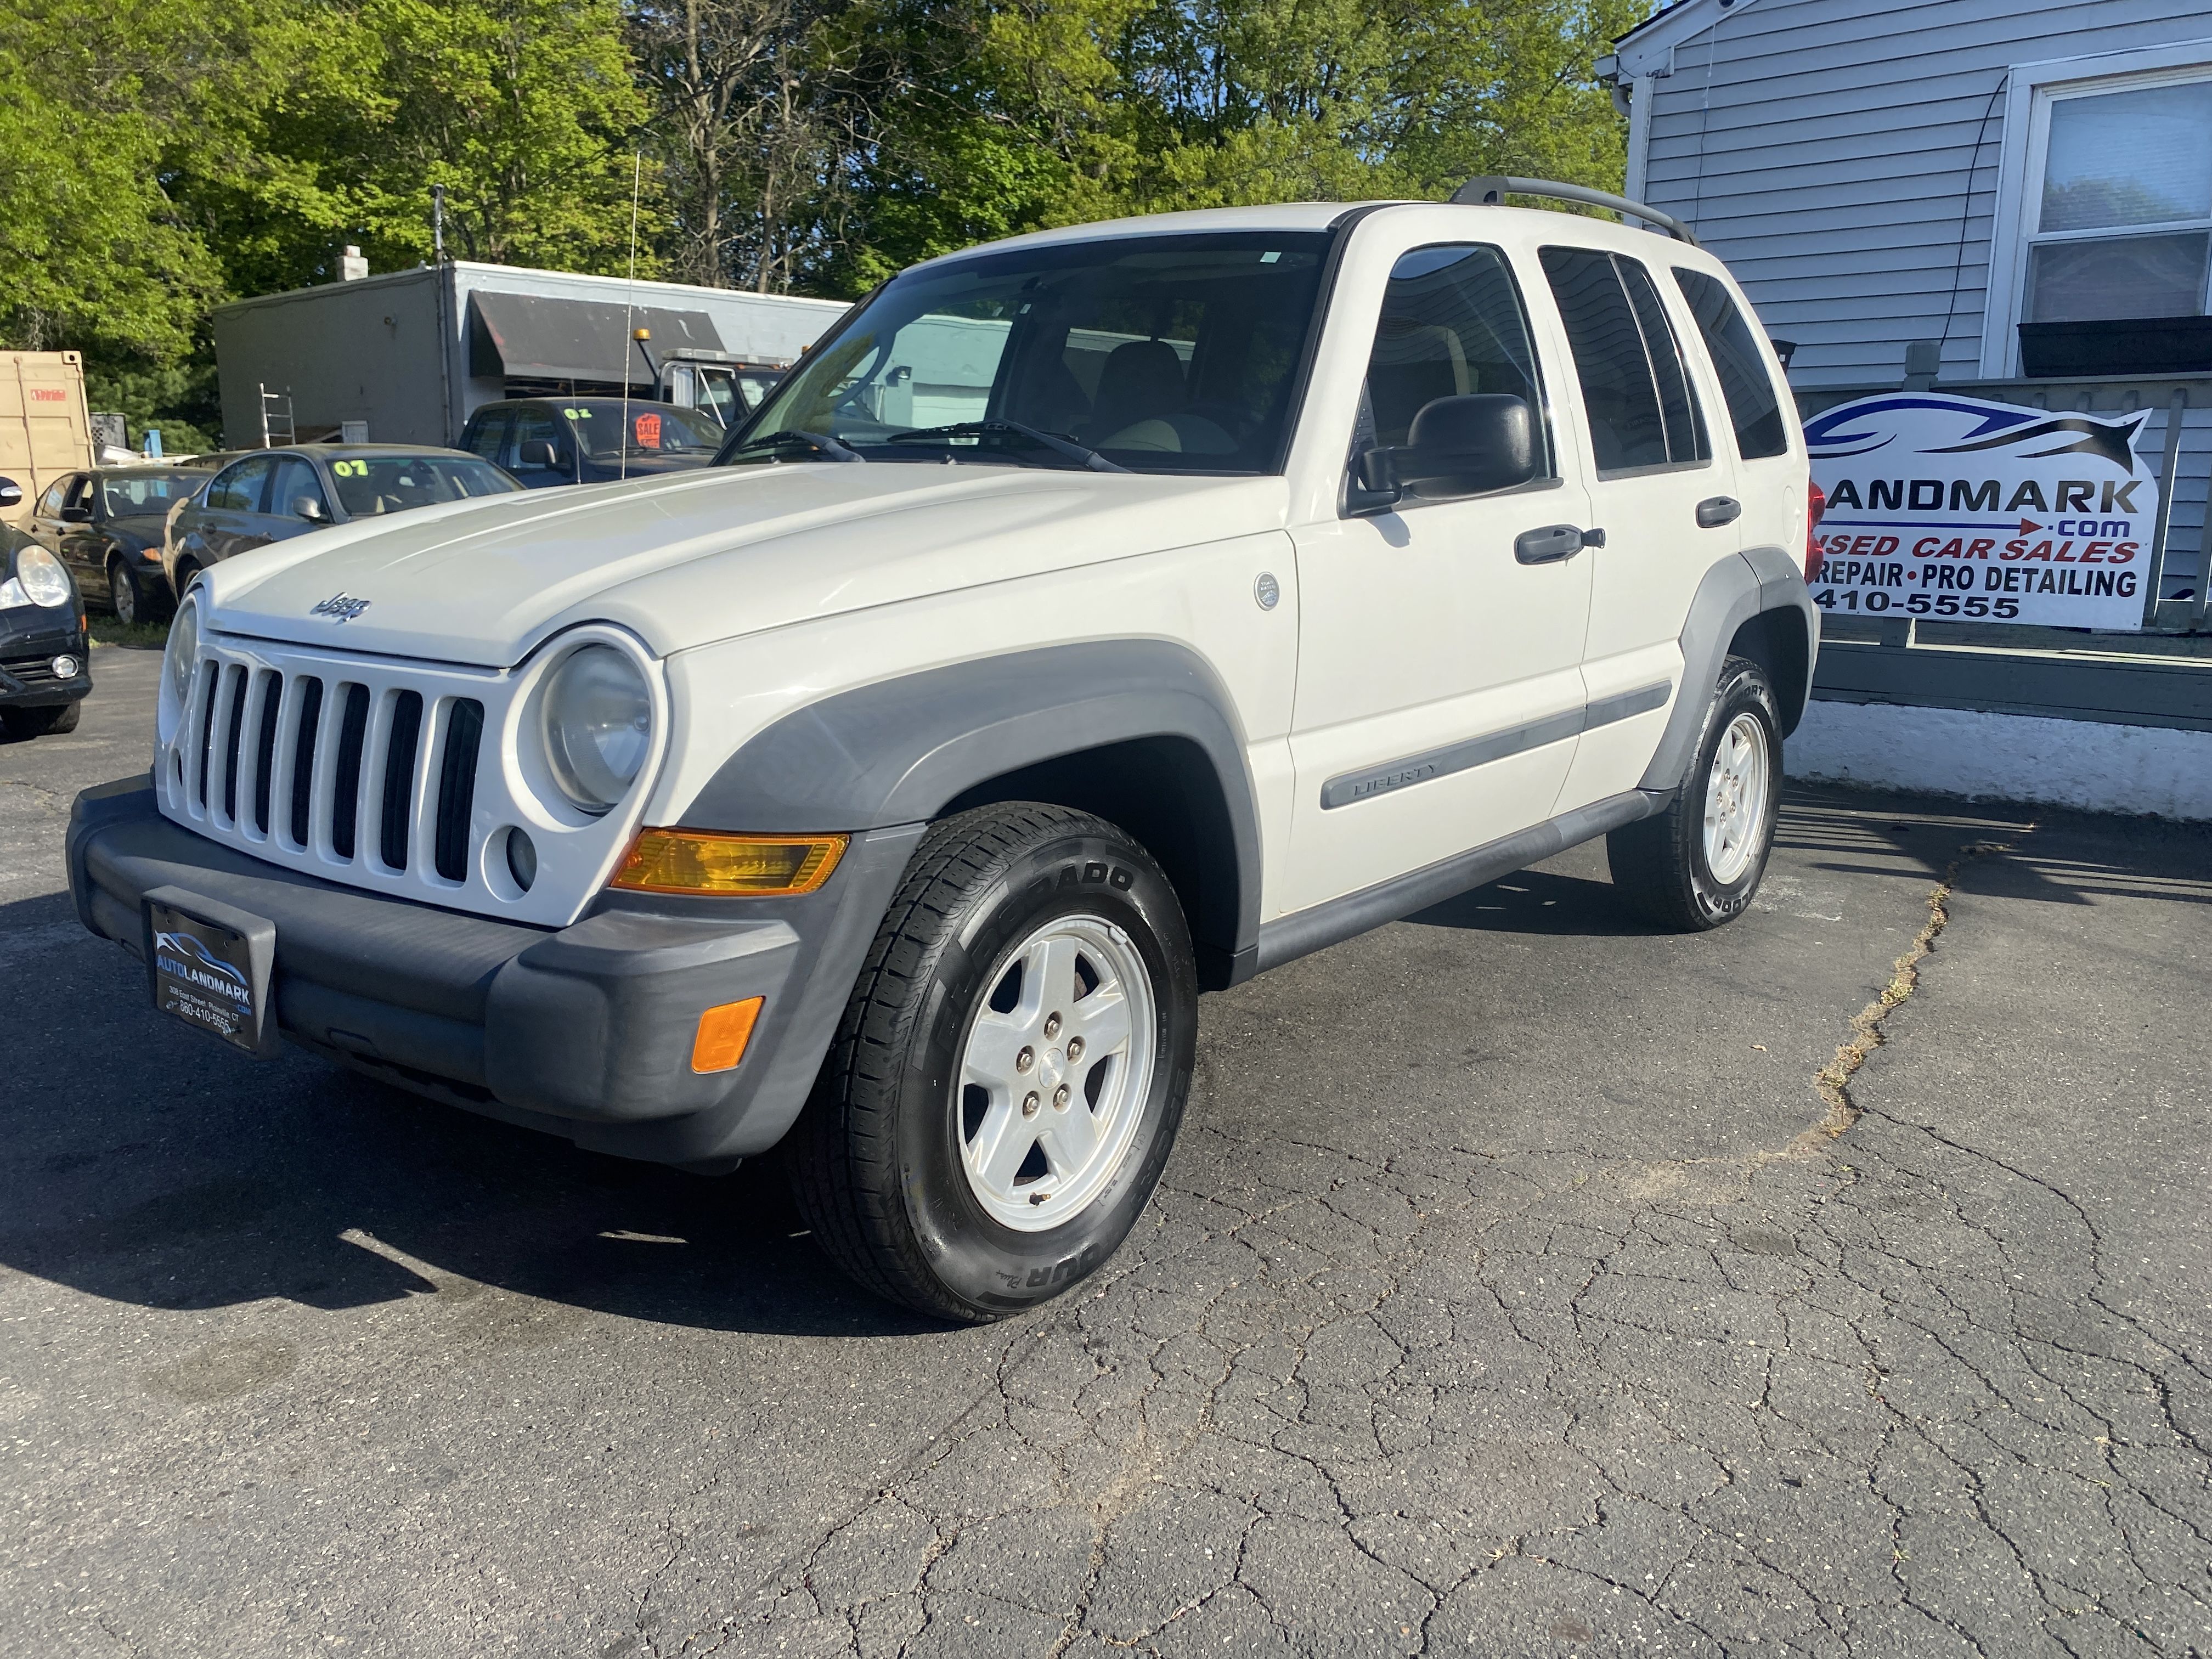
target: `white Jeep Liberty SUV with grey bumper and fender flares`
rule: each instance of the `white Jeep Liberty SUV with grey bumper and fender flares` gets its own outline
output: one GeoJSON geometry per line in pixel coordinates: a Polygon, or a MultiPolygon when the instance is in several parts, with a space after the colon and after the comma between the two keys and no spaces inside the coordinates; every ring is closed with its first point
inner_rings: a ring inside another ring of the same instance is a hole
{"type": "Polygon", "coordinates": [[[995,1318],[1128,1234],[1201,989],[1599,834],[1663,925],[1750,902],[1807,495],[1741,292],[1637,204],[1015,237],[714,467],[208,571],[77,914],[246,1051],[783,1141],[856,1279],[995,1318]]]}

